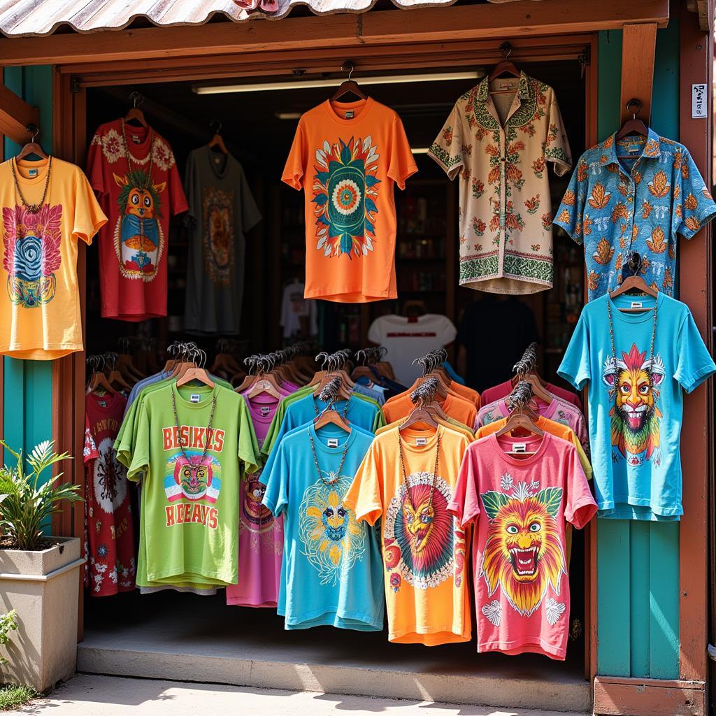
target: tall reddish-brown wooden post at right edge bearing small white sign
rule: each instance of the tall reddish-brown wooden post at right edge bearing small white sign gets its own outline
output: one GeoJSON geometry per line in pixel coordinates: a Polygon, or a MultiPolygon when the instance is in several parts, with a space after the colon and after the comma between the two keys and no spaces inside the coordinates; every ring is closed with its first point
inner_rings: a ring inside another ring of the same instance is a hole
{"type": "MultiPolygon", "coordinates": [[[[713,42],[696,15],[681,6],[679,55],[679,141],[689,148],[706,185],[711,182],[712,101],[706,92],[707,117],[692,119],[691,86],[711,87],[713,42]]],[[[706,345],[712,348],[712,225],[690,241],[679,238],[679,299],[691,309],[706,345]]],[[[709,573],[707,501],[713,451],[713,381],[684,397],[681,461],[684,516],[679,522],[679,675],[707,679],[706,654],[709,573]]],[[[711,478],[712,479],[712,478],[711,478]]],[[[713,626],[711,627],[713,629],[713,626]]]]}

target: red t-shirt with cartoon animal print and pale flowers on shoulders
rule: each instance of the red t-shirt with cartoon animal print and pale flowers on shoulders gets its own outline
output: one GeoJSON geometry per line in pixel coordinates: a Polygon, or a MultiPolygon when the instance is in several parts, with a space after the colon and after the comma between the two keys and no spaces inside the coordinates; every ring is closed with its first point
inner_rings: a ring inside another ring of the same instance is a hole
{"type": "Polygon", "coordinates": [[[109,217],[99,234],[102,317],[166,316],[169,219],[188,208],[171,147],[151,127],[107,122],[87,175],[109,217]]]}

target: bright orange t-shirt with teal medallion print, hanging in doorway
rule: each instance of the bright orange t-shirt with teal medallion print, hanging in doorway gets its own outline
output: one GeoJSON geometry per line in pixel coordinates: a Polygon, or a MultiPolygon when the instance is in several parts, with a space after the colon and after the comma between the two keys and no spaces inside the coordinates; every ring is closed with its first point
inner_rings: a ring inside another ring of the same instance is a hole
{"type": "Polygon", "coordinates": [[[400,117],[371,97],[301,117],[281,180],[304,190],[306,299],[397,298],[394,185],[415,172],[400,117]]]}

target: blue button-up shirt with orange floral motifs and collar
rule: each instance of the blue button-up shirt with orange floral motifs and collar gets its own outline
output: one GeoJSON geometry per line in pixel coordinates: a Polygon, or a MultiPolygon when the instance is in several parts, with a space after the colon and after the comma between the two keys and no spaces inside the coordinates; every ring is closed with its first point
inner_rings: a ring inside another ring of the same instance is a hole
{"type": "Polygon", "coordinates": [[[671,296],[677,233],[694,236],[716,204],[683,145],[653,130],[615,137],[581,155],[554,223],[584,243],[590,301],[621,284],[632,251],[647,284],[671,296]]]}

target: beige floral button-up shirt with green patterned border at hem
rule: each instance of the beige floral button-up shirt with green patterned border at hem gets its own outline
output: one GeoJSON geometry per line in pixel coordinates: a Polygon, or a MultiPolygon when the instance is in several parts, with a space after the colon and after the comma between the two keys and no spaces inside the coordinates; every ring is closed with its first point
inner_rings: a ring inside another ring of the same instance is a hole
{"type": "Polygon", "coordinates": [[[546,162],[571,168],[554,90],[528,77],[488,78],[460,97],[430,147],[460,174],[460,285],[533,294],[553,277],[546,162]]]}

